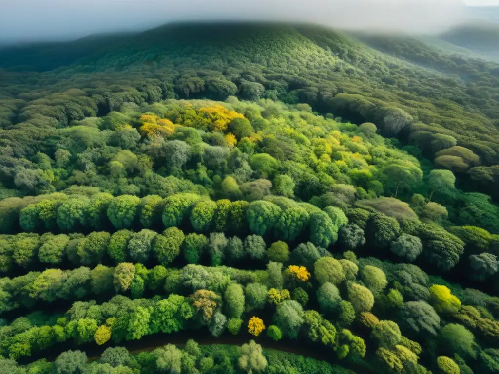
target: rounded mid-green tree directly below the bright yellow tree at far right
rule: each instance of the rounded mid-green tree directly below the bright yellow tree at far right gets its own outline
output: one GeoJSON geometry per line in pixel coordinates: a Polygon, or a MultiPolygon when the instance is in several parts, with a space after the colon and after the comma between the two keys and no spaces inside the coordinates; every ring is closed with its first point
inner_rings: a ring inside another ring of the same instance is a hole
{"type": "Polygon", "coordinates": [[[475,343],[473,333],[462,325],[450,323],[440,331],[440,339],[443,347],[450,353],[457,353],[461,357],[475,359],[477,357],[478,345],[475,343]]]}

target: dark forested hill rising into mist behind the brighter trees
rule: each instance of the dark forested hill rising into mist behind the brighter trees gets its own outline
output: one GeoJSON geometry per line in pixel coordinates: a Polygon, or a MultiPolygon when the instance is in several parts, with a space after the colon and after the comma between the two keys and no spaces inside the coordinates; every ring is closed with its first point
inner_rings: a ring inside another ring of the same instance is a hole
{"type": "MultiPolygon", "coordinates": [[[[499,65],[437,53],[422,42],[385,37],[380,45],[394,56],[319,27],[176,24],[5,48],[0,124],[27,131],[66,127],[126,101],[237,95],[305,102],[320,113],[373,122],[382,135],[419,147],[428,158],[435,154],[429,144],[441,139],[435,134],[444,134],[446,146],[467,148],[484,166],[498,164],[499,65]]],[[[0,136],[11,142],[17,135],[0,136]]],[[[477,166],[469,156],[453,156],[446,166],[454,171],[477,166]]]]}

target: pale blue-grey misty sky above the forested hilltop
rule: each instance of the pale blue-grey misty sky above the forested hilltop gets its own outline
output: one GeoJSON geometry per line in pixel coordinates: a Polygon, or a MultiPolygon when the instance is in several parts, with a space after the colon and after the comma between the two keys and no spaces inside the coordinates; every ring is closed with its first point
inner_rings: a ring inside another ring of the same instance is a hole
{"type": "Polygon", "coordinates": [[[2,0],[0,42],[68,40],[185,20],[287,20],[433,32],[499,0],[2,0]]]}

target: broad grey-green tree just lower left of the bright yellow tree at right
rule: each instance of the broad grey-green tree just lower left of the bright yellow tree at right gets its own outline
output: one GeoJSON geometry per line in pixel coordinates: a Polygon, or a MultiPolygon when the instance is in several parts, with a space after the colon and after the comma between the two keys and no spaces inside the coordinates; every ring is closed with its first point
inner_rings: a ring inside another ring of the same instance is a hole
{"type": "Polygon", "coordinates": [[[423,301],[409,301],[399,310],[400,320],[417,333],[437,335],[440,330],[440,317],[433,307],[423,301]]]}

